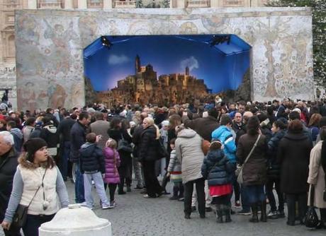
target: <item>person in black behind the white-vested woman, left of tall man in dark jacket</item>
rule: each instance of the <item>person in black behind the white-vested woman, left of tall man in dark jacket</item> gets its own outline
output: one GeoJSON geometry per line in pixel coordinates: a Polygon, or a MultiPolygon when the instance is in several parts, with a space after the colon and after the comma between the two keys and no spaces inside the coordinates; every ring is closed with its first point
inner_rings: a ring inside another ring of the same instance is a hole
{"type": "Polygon", "coordinates": [[[68,160],[70,154],[70,131],[75,121],[70,117],[69,112],[64,112],[64,119],[60,122],[57,127],[57,134],[60,135],[60,148],[61,158],[60,158],[60,172],[64,181],[67,180],[68,175],[68,160]]]}

